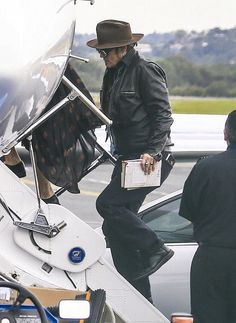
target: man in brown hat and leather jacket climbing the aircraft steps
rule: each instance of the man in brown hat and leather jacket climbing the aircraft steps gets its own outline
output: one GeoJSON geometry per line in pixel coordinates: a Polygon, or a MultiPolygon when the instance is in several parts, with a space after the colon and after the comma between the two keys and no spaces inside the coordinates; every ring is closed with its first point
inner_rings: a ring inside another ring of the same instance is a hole
{"type": "Polygon", "coordinates": [[[162,159],[163,182],[173,159],[169,135],[173,122],[165,72],[140,58],[134,45],[143,34],[133,34],[129,23],[105,20],[97,24],[97,39],[87,45],[97,49],[106,65],[101,91],[103,112],[112,119],[112,142],[118,161],[111,182],[97,199],[104,218],[117,270],[151,301],[148,276],[174,254],[139,217],[146,195],[156,187],[127,190],[121,187],[121,162],[140,159],[145,174],[162,159]],[[168,156],[168,157],[167,157],[168,156]]]}

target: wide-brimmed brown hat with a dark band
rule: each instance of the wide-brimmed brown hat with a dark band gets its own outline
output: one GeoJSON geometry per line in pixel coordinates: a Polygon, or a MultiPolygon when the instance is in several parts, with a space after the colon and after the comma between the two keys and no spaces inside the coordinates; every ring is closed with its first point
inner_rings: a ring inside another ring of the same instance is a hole
{"type": "Polygon", "coordinates": [[[96,32],[97,39],[88,41],[87,45],[97,49],[134,44],[144,36],[143,34],[133,34],[128,22],[113,19],[99,22],[96,32]]]}

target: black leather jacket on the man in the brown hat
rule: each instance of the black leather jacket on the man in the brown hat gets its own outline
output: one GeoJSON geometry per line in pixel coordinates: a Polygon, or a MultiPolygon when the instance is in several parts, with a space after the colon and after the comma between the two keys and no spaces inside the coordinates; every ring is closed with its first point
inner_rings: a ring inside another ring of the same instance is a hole
{"type": "Polygon", "coordinates": [[[101,105],[113,121],[116,153],[156,154],[168,144],[173,119],[165,72],[134,49],[115,68],[106,69],[101,105]]]}

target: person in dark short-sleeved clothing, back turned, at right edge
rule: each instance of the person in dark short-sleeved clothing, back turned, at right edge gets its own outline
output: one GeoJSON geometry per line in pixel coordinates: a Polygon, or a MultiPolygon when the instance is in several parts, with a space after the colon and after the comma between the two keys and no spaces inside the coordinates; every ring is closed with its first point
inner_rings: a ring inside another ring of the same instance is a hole
{"type": "Polygon", "coordinates": [[[226,120],[227,150],[200,160],[187,178],[179,214],[199,247],[191,267],[194,323],[236,322],[236,110],[226,120]]]}

